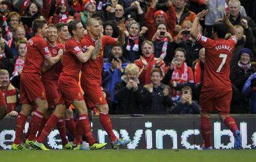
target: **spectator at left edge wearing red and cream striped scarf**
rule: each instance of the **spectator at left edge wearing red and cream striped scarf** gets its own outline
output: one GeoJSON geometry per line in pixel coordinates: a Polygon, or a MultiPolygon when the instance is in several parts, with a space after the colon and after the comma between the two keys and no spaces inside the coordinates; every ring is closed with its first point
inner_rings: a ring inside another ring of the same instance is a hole
{"type": "Polygon", "coordinates": [[[10,83],[9,72],[7,70],[0,70],[0,85],[2,93],[6,98],[7,113],[9,113],[10,116],[18,116],[21,109],[19,103],[20,92],[10,83]]]}

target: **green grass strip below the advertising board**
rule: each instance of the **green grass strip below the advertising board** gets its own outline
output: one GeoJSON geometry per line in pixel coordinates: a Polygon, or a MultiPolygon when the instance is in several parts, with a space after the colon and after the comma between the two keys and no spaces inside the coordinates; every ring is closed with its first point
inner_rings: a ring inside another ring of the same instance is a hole
{"type": "Polygon", "coordinates": [[[256,150],[0,150],[1,162],[256,161],[256,150]]]}

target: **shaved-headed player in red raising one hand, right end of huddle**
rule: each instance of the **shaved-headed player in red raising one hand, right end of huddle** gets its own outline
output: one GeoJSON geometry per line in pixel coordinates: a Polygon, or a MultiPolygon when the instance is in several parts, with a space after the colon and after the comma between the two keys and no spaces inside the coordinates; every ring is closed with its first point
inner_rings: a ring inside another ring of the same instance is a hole
{"type": "Polygon", "coordinates": [[[109,119],[108,104],[101,90],[101,70],[103,69],[103,53],[106,45],[124,45],[124,22],[119,24],[119,37],[112,38],[102,34],[103,27],[98,20],[88,18],[86,29],[88,34],[81,41],[83,48],[95,46],[92,58],[83,64],[81,87],[85,92],[85,101],[89,108],[97,108],[100,111],[100,122],[111,139],[114,149],[127,145],[129,140],[117,139],[114,135],[112,123],[109,119]]]}

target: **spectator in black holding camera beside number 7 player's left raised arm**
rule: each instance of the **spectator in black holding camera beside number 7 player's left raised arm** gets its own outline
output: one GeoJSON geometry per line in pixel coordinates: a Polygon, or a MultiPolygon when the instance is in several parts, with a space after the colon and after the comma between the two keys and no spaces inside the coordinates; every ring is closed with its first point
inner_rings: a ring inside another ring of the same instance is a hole
{"type": "MultiPolygon", "coordinates": [[[[202,46],[190,36],[190,21],[187,20],[182,24],[182,30],[177,35],[176,43],[178,47],[186,49],[186,63],[187,66],[194,66],[193,62],[198,59],[199,49],[202,46]]],[[[191,24],[192,25],[192,24],[191,24]]],[[[198,25],[198,31],[202,33],[202,26],[198,25]]]]}

